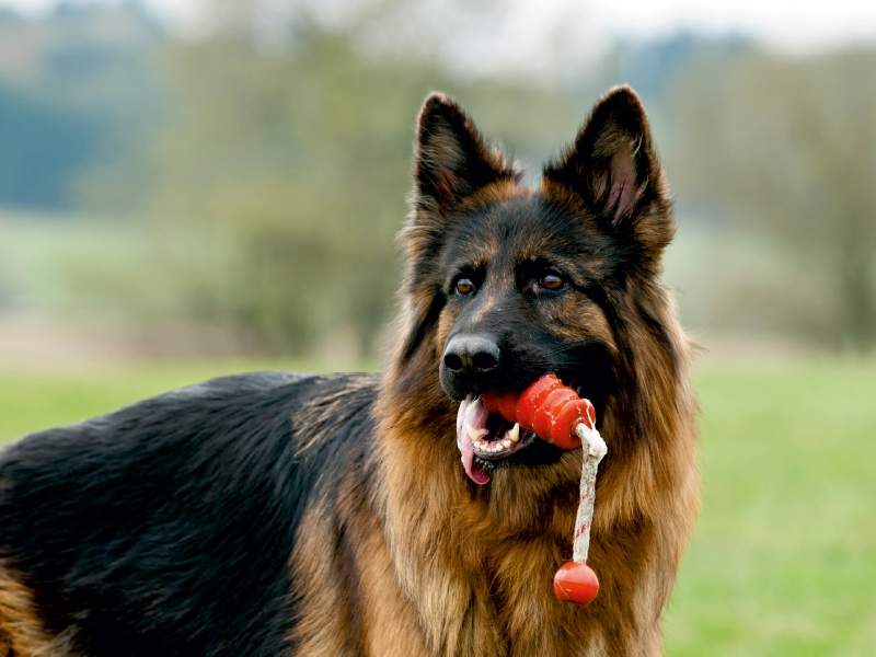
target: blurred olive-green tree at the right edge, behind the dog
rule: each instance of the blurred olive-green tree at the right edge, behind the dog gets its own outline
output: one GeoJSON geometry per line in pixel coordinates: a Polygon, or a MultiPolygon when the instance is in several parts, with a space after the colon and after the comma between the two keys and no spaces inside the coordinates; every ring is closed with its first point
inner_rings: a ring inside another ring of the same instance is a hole
{"type": "Polygon", "coordinates": [[[667,88],[672,177],[689,203],[772,231],[832,281],[835,345],[876,344],[876,53],[759,50],[685,68],[667,88]]]}

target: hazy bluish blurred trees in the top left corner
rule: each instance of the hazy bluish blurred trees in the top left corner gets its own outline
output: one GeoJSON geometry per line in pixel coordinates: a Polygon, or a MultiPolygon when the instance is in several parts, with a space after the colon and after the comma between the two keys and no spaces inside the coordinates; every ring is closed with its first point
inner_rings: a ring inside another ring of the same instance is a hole
{"type": "Polygon", "coordinates": [[[0,11],[0,204],[130,211],[160,115],[163,34],[139,2],[0,11]]]}

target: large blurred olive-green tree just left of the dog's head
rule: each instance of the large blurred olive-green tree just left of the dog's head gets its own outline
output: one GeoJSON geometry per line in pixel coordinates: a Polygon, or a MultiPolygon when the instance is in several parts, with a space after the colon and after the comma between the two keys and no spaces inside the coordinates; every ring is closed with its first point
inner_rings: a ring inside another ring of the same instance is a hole
{"type": "Polygon", "coordinates": [[[315,19],[299,16],[286,42],[267,45],[241,31],[252,23],[235,14],[232,28],[169,49],[154,215],[169,240],[174,227],[197,227],[231,254],[230,275],[189,288],[196,319],[230,322],[268,350],[353,334],[371,354],[400,286],[393,235],[426,93],[457,92],[492,118],[492,135],[529,134],[514,140],[527,154],[541,154],[545,135],[554,146],[557,131],[573,135],[580,116],[562,91],[454,82],[415,56],[366,55],[355,32],[315,19]]]}

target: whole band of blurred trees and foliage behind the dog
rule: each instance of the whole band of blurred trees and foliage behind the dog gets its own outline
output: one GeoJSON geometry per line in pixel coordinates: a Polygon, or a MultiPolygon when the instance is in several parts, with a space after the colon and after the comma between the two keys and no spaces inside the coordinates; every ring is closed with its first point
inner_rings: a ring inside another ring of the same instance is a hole
{"type": "Polygon", "coordinates": [[[876,49],[681,33],[491,69],[448,44],[503,3],[439,4],[214,0],[194,34],[136,2],[0,13],[0,322],[123,350],[371,357],[426,93],[456,95],[535,180],[630,82],[677,197],[685,324],[874,345],[876,49]]]}

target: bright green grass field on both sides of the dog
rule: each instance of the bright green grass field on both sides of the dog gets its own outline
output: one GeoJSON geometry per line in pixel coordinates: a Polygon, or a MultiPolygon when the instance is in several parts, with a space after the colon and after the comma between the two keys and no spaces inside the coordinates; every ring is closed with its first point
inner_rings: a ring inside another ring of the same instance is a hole
{"type": "MultiPolygon", "coordinates": [[[[268,367],[0,372],[0,441],[268,367]]],[[[668,654],[873,655],[876,362],[712,366],[698,387],[704,505],[666,619],[668,654]]]]}

